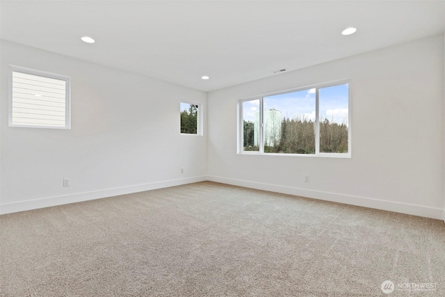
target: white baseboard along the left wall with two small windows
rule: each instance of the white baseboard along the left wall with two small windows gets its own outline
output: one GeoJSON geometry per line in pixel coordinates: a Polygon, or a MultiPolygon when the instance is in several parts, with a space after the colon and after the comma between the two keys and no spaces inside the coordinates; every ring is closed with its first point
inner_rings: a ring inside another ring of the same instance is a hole
{"type": "Polygon", "coordinates": [[[54,207],[56,205],[70,204],[86,200],[95,200],[117,195],[149,191],[149,190],[154,190],[156,188],[168,188],[169,186],[180,186],[181,184],[192,184],[194,182],[204,182],[206,180],[207,180],[206,176],[188,177],[184,179],[172,179],[164,182],[152,182],[148,184],[124,186],[120,188],[108,188],[106,190],[91,191],[85,193],[74,193],[70,195],[61,195],[61,196],[41,198],[36,200],[6,203],[6,204],[0,204],[0,214],[10,214],[17,211],[40,209],[44,207],[54,207]]]}

